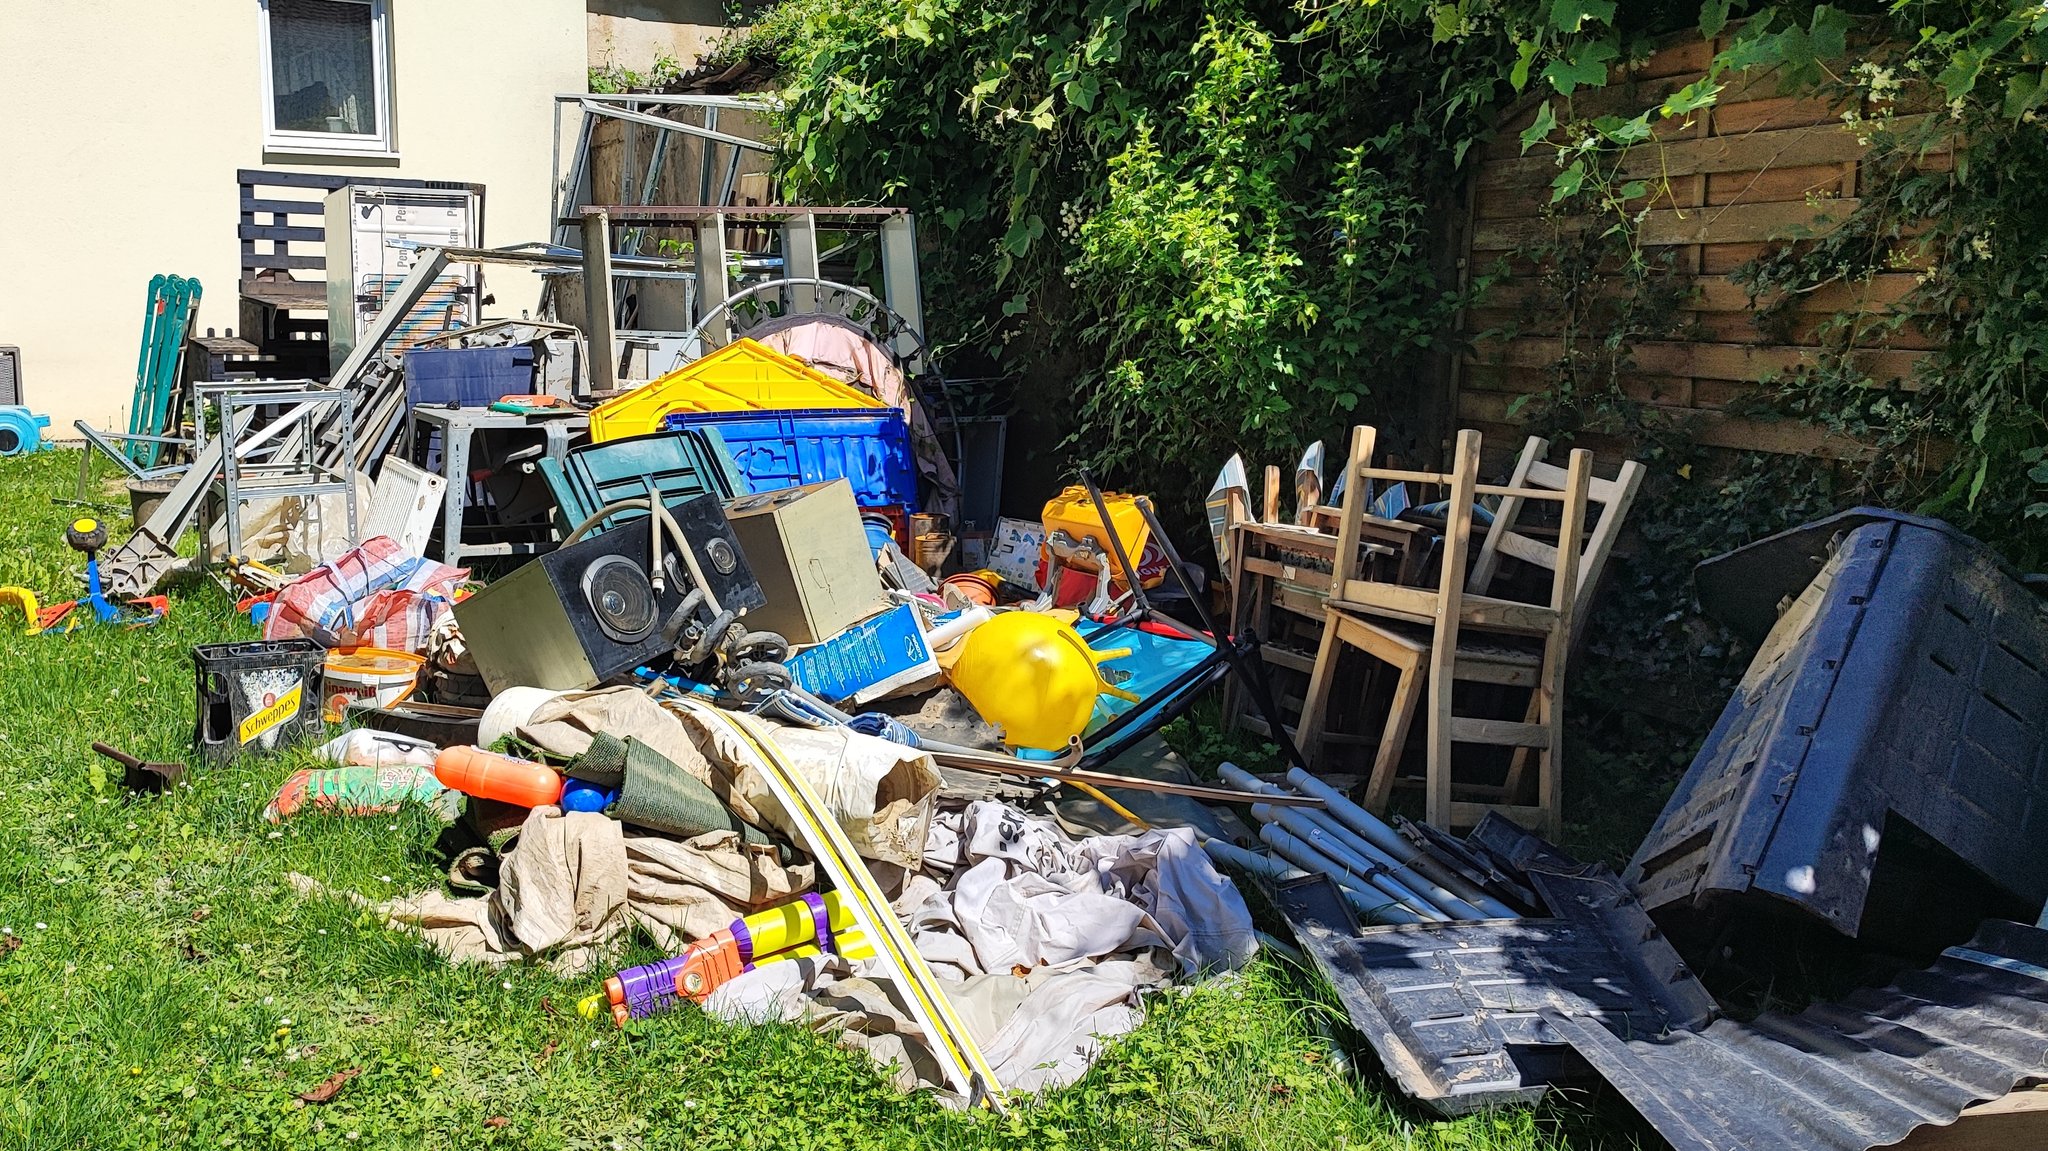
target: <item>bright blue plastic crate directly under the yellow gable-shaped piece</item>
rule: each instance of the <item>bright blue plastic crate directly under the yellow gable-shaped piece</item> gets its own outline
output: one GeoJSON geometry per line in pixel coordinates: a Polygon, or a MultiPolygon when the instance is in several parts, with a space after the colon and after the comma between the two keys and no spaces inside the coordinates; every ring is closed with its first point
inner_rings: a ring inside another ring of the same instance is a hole
{"type": "Polygon", "coordinates": [[[670,412],[664,426],[723,449],[754,492],[846,479],[862,508],[918,506],[918,465],[901,408],[670,412]]]}

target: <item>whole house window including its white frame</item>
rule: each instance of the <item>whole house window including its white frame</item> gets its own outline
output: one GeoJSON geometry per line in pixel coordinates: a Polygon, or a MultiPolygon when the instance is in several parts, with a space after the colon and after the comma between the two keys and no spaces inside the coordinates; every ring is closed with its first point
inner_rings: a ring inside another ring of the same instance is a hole
{"type": "Polygon", "coordinates": [[[264,147],[391,154],[385,0],[258,0],[264,147]]]}

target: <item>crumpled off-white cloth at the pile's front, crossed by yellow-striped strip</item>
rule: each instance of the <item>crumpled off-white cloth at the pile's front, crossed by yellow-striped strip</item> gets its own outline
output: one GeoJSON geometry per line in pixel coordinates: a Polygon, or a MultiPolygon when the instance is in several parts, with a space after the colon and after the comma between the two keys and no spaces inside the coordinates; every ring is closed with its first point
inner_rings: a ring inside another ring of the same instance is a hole
{"type": "MultiPolygon", "coordinates": [[[[1051,819],[983,801],[938,815],[924,856],[950,877],[911,877],[897,909],[1010,1090],[1071,1083],[1104,1038],[1143,1022],[1147,989],[1235,969],[1257,948],[1237,889],[1186,829],[1073,840],[1051,819]]],[[[942,1081],[872,961],[764,965],[705,1008],[834,1030],[893,1065],[903,1088],[942,1081]]]]}

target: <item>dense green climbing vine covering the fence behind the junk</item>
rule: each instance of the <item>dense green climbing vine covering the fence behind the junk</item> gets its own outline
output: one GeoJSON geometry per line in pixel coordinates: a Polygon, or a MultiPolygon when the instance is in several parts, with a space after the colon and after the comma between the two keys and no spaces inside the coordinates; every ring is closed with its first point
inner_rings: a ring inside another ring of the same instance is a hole
{"type": "Polygon", "coordinates": [[[1169,506],[1233,451],[1284,463],[1354,422],[1427,451],[1434,358],[1503,274],[1446,258],[1475,156],[1554,162],[1554,240],[1518,256],[1559,354],[1513,418],[1651,463],[1569,713],[1593,823],[1640,829],[1747,659],[1692,610],[1698,559],[1878,500],[2048,563],[2038,2],[784,0],[727,53],[778,70],[786,195],[920,213],[948,365],[1169,506]],[[1683,37],[1712,45],[1698,78],[1636,84],[1683,37]],[[1853,205],[1737,276],[1765,328],[1847,301],[1755,416],[1860,440],[1855,465],[1702,451],[1628,387],[1640,344],[1692,336],[1696,279],[1642,231],[1663,141],[1739,90],[1835,100],[1870,143],[1853,205]],[[1509,109],[1534,119],[1495,139],[1509,109]],[[1901,272],[1905,299],[1860,303],[1901,272]],[[1937,350],[1874,377],[1909,330],[1937,350]]]}

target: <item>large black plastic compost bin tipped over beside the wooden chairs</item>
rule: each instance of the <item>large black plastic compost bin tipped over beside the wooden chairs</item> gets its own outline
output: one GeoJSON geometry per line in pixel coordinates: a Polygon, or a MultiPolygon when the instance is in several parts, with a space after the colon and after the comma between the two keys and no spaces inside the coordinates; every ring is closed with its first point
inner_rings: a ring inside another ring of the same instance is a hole
{"type": "Polygon", "coordinates": [[[1868,938],[1888,838],[1956,862],[1911,915],[1970,887],[2048,899],[2048,606],[1985,545],[1858,508],[1710,559],[1698,584],[1761,647],[1630,860],[1667,930],[1702,938],[1747,907],[1868,938]]]}

